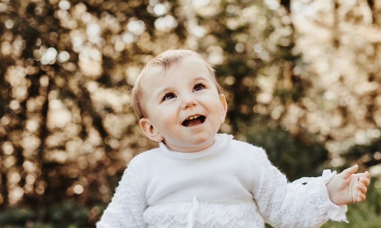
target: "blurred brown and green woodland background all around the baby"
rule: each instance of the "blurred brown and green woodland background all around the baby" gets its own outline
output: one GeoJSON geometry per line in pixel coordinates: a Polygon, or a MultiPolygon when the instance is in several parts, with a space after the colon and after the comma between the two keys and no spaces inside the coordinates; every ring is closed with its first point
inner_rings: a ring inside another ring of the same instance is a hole
{"type": "MultiPolygon", "coordinates": [[[[170,48],[206,55],[220,131],[290,181],[359,164],[349,224],[381,227],[381,1],[0,1],[0,227],[94,227],[136,154],[129,90],[170,48]]],[[[270,226],[269,226],[270,227],[270,226]]]]}

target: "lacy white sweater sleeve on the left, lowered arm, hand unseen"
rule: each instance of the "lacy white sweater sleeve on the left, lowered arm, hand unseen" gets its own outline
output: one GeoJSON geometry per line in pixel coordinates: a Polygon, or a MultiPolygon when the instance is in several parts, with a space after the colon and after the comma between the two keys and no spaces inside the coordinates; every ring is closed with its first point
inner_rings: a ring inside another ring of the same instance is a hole
{"type": "Polygon", "coordinates": [[[146,207],[135,173],[129,167],[124,171],[111,203],[97,223],[97,228],[146,227],[143,221],[146,207]]]}

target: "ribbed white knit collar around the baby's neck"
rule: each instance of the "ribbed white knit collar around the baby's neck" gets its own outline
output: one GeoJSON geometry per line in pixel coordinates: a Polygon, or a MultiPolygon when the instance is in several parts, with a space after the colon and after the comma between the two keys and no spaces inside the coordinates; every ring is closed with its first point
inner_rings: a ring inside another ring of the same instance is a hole
{"type": "Polygon", "coordinates": [[[175,159],[197,159],[201,157],[205,157],[208,155],[212,155],[220,151],[222,148],[228,145],[228,143],[233,139],[233,135],[228,134],[216,134],[214,137],[213,145],[209,146],[206,149],[200,150],[198,152],[186,153],[172,150],[167,147],[167,145],[163,142],[159,143],[159,147],[163,151],[163,153],[169,157],[175,159]]]}

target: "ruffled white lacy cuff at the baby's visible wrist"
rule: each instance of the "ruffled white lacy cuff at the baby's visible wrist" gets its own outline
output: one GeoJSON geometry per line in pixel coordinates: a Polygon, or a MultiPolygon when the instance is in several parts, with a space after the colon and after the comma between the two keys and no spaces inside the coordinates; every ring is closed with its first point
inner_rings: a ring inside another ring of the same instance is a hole
{"type": "Polygon", "coordinates": [[[345,221],[346,223],[348,223],[348,220],[346,219],[346,216],[345,216],[345,213],[348,210],[347,206],[345,204],[336,205],[332,203],[332,201],[329,199],[326,184],[329,181],[331,181],[331,179],[335,175],[336,175],[336,171],[331,172],[330,169],[326,169],[323,171],[321,178],[323,180],[324,185],[321,185],[322,186],[321,192],[322,192],[322,197],[324,197],[324,199],[327,199],[324,207],[326,207],[327,209],[327,215],[329,219],[333,221],[345,221]]]}

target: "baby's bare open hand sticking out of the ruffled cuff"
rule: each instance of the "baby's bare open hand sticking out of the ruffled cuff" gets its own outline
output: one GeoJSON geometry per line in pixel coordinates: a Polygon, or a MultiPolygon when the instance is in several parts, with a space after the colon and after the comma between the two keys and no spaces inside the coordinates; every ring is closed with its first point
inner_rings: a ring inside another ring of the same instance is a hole
{"type": "Polygon", "coordinates": [[[326,184],[332,203],[341,205],[365,200],[370,174],[368,171],[355,174],[358,168],[358,165],[347,168],[326,184]]]}

